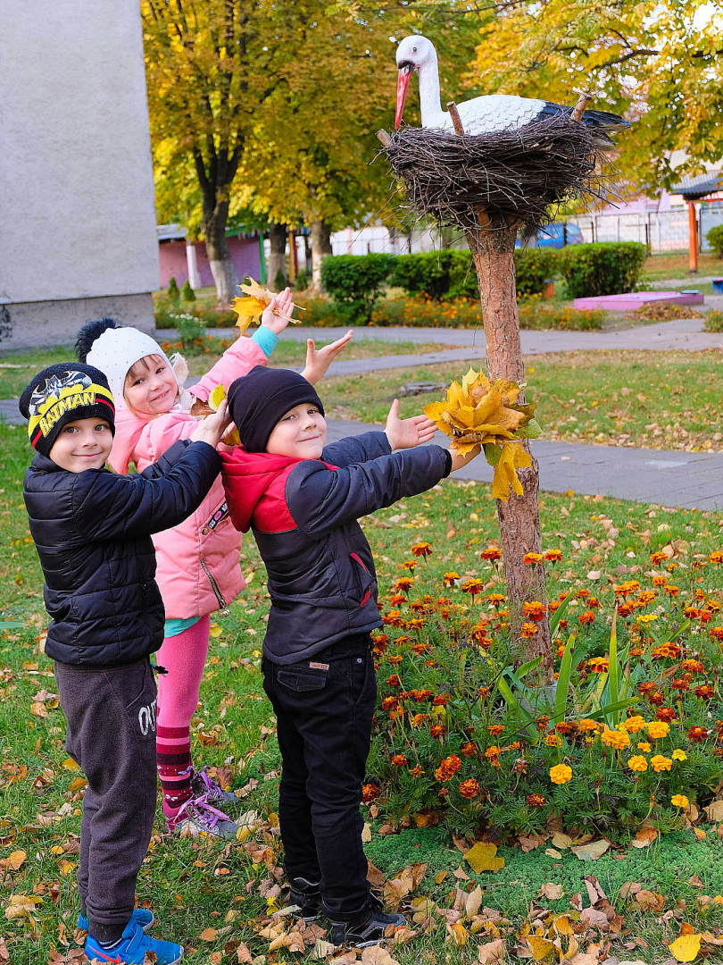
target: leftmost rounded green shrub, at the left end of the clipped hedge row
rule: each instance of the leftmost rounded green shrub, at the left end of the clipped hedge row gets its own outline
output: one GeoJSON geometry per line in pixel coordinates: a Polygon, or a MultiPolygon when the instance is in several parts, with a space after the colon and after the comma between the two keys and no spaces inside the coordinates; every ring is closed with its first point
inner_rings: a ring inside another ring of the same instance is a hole
{"type": "Polygon", "coordinates": [[[393,255],[330,256],[321,262],[321,284],[340,314],[349,321],[368,324],[393,263],[393,255]]]}

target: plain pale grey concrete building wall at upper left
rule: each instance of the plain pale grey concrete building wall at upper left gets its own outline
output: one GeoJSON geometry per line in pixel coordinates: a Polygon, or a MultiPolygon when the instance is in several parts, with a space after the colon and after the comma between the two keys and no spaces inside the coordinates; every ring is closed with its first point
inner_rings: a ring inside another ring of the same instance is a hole
{"type": "Polygon", "coordinates": [[[111,309],[152,329],[138,0],[6,0],[0,37],[0,305],[12,329],[0,347],[47,344],[53,317],[53,339],[68,341],[111,309]]]}

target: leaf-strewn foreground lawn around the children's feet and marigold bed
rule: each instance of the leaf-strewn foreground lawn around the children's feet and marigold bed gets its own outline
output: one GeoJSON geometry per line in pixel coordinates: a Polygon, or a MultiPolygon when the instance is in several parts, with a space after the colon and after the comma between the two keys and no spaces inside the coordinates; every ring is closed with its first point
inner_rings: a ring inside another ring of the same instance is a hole
{"type": "MultiPolygon", "coordinates": [[[[73,934],[73,924],[83,780],[77,771],[67,769],[64,719],[52,696],[50,664],[42,654],[46,618],[40,567],[19,489],[30,455],[24,429],[0,427],[0,444],[0,616],[22,623],[19,629],[3,631],[0,640],[0,861],[6,864],[4,872],[0,866],[2,909],[11,906],[11,895],[40,899],[30,917],[4,921],[0,933],[7,943],[5,960],[13,965],[45,965],[49,960],[64,961],[65,951],[82,938],[73,934]],[[59,953],[51,959],[54,949],[59,953]]],[[[723,514],[716,512],[662,510],[571,494],[544,494],[541,511],[545,547],[563,553],[550,593],[590,589],[600,596],[601,614],[606,617],[612,607],[611,583],[623,578],[623,572],[642,574],[649,567],[650,552],[675,543],[677,581],[684,585],[692,578],[691,565],[723,546],[723,514]]],[[[377,557],[385,597],[418,540],[432,544],[433,554],[422,565],[439,593],[450,593],[442,588],[441,577],[451,568],[463,576],[494,576],[494,567],[480,564],[478,558],[480,548],[497,537],[495,502],[485,485],[445,481],[439,489],[367,518],[364,529],[377,557]]],[[[268,924],[265,916],[278,907],[269,875],[277,858],[274,812],[279,756],[273,715],[260,687],[259,651],[267,597],[251,538],[242,567],[249,588],[228,616],[218,617],[220,633],[211,642],[202,703],[192,727],[197,761],[224,765],[231,786],[246,789],[242,811],[252,831],[243,844],[176,840],[161,836],[159,821],[138,886],[139,900],[152,906],[162,923],[156,933],[185,943],[184,962],[190,965],[246,960],[236,951],[241,942],[251,950],[254,965],[308,961],[308,956],[283,948],[269,953],[268,933],[258,935],[268,924]]],[[[723,574],[709,568],[706,580],[709,590],[720,591],[723,574]]],[[[474,607],[471,610],[470,616],[474,607]]],[[[717,698],[710,709],[713,715],[720,713],[717,698]]],[[[477,937],[468,935],[464,948],[455,944],[453,936],[459,938],[459,931],[446,929],[444,918],[435,912],[429,934],[392,949],[400,965],[420,960],[432,965],[471,963],[476,961],[480,938],[488,941],[500,933],[512,934],[524,926],[525,919],[539,917],[541,909],[575,916],[571,899],[580,892],[586,896],[585,876],[590,874],[625,920],[623,932],[612,936],[609,951],[618,959],[667,959],[666,943],[678,936],[683,919],[696,930],[722,924],[719,904],[700,900],[702,895],[723,894],[723,845],[714,832],[698,841],[692,832],[679,831],[644,850],[616,850],[595,864],[578,861],[567,849],[550,855],[543,847],[524,853],[520,847],[502,845],[499,855],[505,860],[504,868],[475,875],[439,828],[380,835],[380,822],[369,817],[369,824],[369,857],[385,876],[392,877],[413,862],[428,863],[413,897],[427,896],[451,908],[461,900],[455,886],[466,899],[479,885],[485,890],[482,904],[492,909],[485,913],[489,924],[477,937]],[[653,893],[657,910],[643,911],[637,902],[631,904],[621,896],[626,882],[642,884],[653,893]],[[548,889],[557,896],[540,896],[543,885],[559,886],[548,889]],[[499,915],[509,916],[511,924],[495,924],[499,915]]],[[[587,897],[584,904],[588,905],[587,897]]],[[[580,951],[586,951],[591,936],[595,937],[590,933],[584,942],[578,936],[580,951]]],[[[3,948],[0,940],[0,961],[3,948]]],[[[717,948],[708,948],[712,960],[720,960],[717,948]]],[[[578,965],[593,965],[595,960],[578,965]]],[[[373,965],[376,959],[365,961],[373,965]]]]}

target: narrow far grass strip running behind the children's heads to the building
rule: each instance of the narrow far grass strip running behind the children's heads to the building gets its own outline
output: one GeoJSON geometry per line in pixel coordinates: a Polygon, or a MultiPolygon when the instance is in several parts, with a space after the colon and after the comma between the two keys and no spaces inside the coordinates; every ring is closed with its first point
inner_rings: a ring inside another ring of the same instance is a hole
{"type": "MultiPolygon", "coordinates": [[[[329,345],[332,341],[328,336],[319,335],[314,340],[317,348],[329,345]]],[[[212,350],[202,355],[187,354],[188,369],[191,375],[202,375],[220,357],[222,352],[220,339],[210,339],[212,350]]],[[[380,355],[419,355],[424,352],[442,351],[445,348],[455,348],[455,345],[442,345],[439,342],[383,342],[381,339],[352,340],[344,349],[342,358],[367,359],[380,355]]],[[[175,349],[170,349],[171,354],[175,349]]],[[[277,369],[295,368],[303,366],[307,357],[306,343],[283,341],[274,349],[270,364],[277,369]]],[[[36,348],[22,352],[6,353],[0,356],[0,399],[16,399],[30,381],[35,372],[56,362],[70,362],[75,360],[75,353],[71,348],[60,345],[50,348],[36,348]]]]}

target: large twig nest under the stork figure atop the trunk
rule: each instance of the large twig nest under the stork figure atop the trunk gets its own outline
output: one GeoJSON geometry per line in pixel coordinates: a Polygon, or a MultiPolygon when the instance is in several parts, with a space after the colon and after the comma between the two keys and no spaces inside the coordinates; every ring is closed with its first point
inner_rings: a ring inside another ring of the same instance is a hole
{"type": "Polygon", "coordinates": [[[586,124],[564,116],[476,135],[403,127],[384,153],[409,207],[468,232],[482,210],[487,227],[537,229],[565,202],[604,196],[602,153],[586,124]]]}

